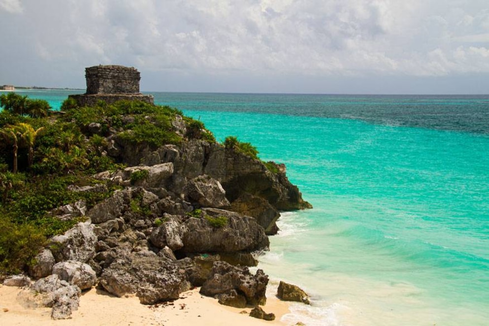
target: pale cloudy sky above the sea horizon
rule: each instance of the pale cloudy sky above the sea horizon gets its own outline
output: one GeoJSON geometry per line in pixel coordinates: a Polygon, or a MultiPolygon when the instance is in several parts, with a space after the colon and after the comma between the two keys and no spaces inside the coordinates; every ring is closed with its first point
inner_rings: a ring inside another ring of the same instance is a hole
{"type": "Polygon", "coordinates": [[[0,0],[0,84],[142,91],[489,94],[488,0],[0,0]]]}

